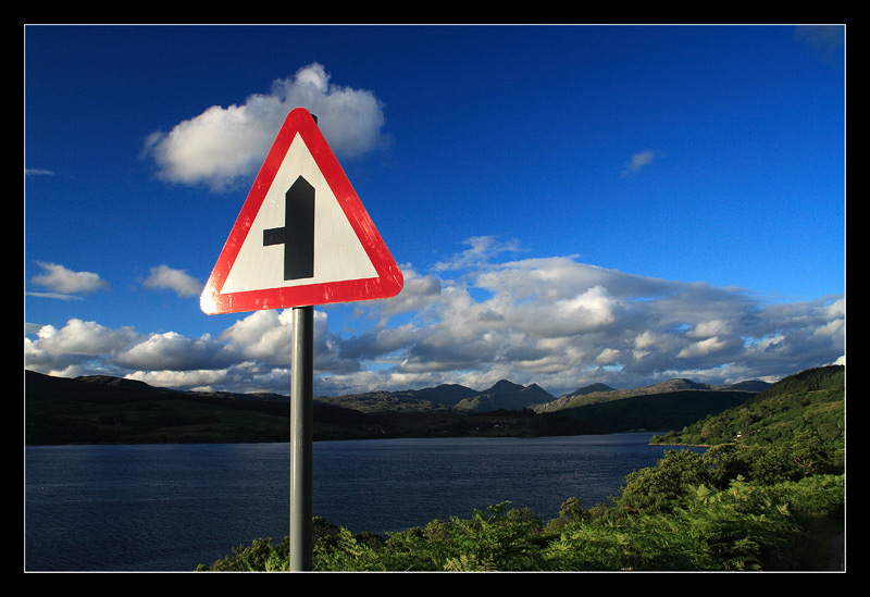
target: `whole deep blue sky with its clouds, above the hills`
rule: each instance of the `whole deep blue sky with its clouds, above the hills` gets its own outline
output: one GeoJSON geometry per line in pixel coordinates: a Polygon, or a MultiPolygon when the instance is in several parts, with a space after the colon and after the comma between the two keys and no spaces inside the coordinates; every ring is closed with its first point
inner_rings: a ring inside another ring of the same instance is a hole
{"type": "Polygon", "coordinates": [[[199,293],[308,108],[405,274],[315,393],[776,380],[845,359],[845,28],[26,26],[25,366],[289,393],[199,293]]]}

